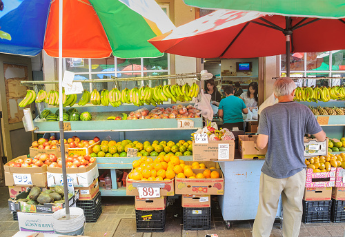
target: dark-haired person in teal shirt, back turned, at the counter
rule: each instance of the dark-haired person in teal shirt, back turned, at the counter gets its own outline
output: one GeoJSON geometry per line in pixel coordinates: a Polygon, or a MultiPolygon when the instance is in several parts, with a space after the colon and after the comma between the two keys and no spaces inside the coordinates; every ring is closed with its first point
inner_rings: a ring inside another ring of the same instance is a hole
{"type": "Polygon", "coordinates": [[[224,87],[226,98],[219,103],[218,115],[223,118],[223,128],[233,130],[238,127],[238,130],[244,130],[244,121],[242,112],[248,114],[248,109],[242,99],[234,96],[234,87],[226,85],[224,87]]]}

